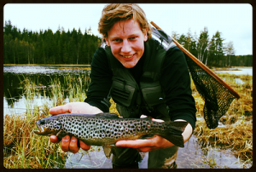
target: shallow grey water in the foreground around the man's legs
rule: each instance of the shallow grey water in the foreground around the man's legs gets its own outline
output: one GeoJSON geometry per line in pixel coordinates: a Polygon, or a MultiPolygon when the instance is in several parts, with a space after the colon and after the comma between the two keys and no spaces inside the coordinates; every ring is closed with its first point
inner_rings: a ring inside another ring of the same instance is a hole
{"type": "MultiPolygon", "coordinates": [[[[111,158],[106,158],[102,147],[97,147],[94,152],[69,153],[65,165],[67,169],[112,169],[111,158]]],[[[178,149],[176,163],[177,169],[241,169],[243,167],[243,163],[239,162],[230,150],[201,148],[194,135],[183,148],[178,149]]],[[[139,163],[139,169],[148,169],[148,152],[139,163]]]]}

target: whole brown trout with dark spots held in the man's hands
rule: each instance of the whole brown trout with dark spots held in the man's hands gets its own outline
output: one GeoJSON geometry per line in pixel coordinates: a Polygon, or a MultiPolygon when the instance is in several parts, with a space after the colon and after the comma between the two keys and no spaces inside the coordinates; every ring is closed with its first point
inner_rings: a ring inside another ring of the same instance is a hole
{"type": "MultiPolygon", "coordinates": [[[[183,147],[183,130],[188,122],[157,123],[148,118],[119,118],[114,113],[96,115],[65,113],[38,120],[37,135],[75,136],[91,146],[112,147],[118,140],[137,140],[145,135],[160,135],[183,147]]],[[[106,154],[105,148],[104,152],[106,154]]],[[[107,158],[109,158],[106,154],[107,158]]]]}

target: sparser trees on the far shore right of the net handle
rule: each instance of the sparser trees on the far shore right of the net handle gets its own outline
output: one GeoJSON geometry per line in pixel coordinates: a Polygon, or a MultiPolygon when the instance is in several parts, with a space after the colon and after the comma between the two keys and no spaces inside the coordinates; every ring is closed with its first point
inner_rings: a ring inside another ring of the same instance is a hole
{"type": "Polygon", "coordinates": [[[207,66],[253,66],[253,54],[235,55],[233,42],[225,44],[221,32],[209,37],[204,27],[199,37],[192,36],[190,29],[186,35],[172,32],[172,37],[207,66]]]}

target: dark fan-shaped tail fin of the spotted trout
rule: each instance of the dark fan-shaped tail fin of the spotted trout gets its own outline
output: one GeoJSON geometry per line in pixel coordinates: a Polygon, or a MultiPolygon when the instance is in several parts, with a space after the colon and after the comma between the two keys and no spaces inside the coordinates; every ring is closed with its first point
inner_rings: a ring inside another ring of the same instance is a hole
{"type": "Polygon", "coordinates": [[[169,122],[170,125],[166,131],[160,134],[161,137],[169,140],[174,145],[184,147],[183,131],[186,128],[188,122],[169,122]]]}

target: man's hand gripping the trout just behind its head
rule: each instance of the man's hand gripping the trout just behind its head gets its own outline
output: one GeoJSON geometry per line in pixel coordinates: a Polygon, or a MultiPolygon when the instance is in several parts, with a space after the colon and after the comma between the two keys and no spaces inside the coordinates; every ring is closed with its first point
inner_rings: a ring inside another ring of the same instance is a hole
{"type": "MultiPolygon", "coordinates": [[[[96,114],[101,113],[102,111],[95,106],[90,106],[88,103],[85,102],[73,102],[67,103],[63,106],[56,106],[49,109],[49,113],[52,115],[57,115],[61,113],[84,113],[84,114],[96,114]]],[[[58,143],[61,141],[61,149],[63,152],[79,152],[79,147],[88,151],[90,146],[86,145],[83,141],[78,140],[76,137],[72,136],[70,138],[69,135],[66,135],[59,140],[56,135],[51,135],[49,140],[53,143],[58,143]],[[79,142],[78,142],[79,141],[79,142]]]]}

